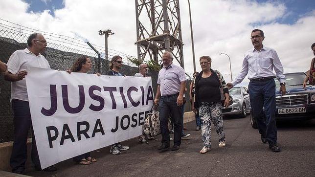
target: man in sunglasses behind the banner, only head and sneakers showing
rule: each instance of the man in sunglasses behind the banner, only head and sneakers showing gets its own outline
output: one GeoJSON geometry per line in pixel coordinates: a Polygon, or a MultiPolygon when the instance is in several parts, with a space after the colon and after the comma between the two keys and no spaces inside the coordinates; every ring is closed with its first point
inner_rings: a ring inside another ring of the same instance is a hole
{"type": "MultiPolygon", "coordinates": [[[[109,76],[123,76],[119,70],[122,67],[122,58],[119,55],[115,55],[112,57],[112,60],[109,64],[110,70],[106,72],[106,75],[109,76]]],[[[124,146],[121,143],[115,143],[111,146],[110,153],[112,155],[120,155],[120,151],[128,150],[129,146],[124,146]]]]}

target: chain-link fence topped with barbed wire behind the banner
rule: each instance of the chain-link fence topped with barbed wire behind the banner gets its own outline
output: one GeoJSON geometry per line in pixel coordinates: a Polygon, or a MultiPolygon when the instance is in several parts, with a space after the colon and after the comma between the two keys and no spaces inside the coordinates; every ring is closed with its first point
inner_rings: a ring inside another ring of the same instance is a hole
{"type": "MultiPolygon", "coordinates": [[[[69,69],[78,57],[86,55],[89,56],[93,64],[89,73],[101,71],[100,73],[105,75],[109,70],[110,61],[104,59],[105,49],[102,46],[90,44],[94,50],[98,51],[100,54],[98,55],[86,42],[63,35],[31,29],[2,19],[0,19],[0,60],[7,63],[14,51],[27,47],[26,41],[28,36],[36,32],[42,33],[47,41],[47,49],[43,55],[47,59],[51,69],[69,69]]],[[[114,55],[120,55],[124,58],[124,65],[121,69],[124,75],[134,76],[139,71],[137,66],[126,59],[132,56],[109,48],[109,58],[112,58],[114,55]]],[[[148,75],[152,77],[153,89],[156,91],[158,72],[149,71],[148,75]]],[[[187,90],[189,90],[189,82],[187,82],[187,90]]],[[[188,93],[188,91],[185,93],[186,98],[189,98],[188,93]]],[[[14,126],[10,95],[10,82],[5,81],[3,76],[0,76],[0,142],[7,142],[13,139],[14,126]]],[[[185,110],[190,111],[190,109],[190,104],[186,104],[185,110]]]]}

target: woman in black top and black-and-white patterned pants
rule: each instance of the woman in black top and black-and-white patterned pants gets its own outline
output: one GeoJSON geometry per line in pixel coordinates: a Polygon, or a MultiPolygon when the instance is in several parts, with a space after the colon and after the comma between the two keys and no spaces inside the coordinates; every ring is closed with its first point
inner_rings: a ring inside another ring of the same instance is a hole
{"type": "Polygon", "coordinates": [[[225,146],[225,133],[222,117],[222,93],[225,94],[224,106],[229,106],[228,88],[222,74],[211,69],[211,58],[209,56],[200,57],[200,65],[203,71],[197,76],[195,81],[195,101],[193,108],[199,109],[202,122],[203,149],[204,154],[211,150],[211,121],[219,135],[219,147],[225,146]]]}

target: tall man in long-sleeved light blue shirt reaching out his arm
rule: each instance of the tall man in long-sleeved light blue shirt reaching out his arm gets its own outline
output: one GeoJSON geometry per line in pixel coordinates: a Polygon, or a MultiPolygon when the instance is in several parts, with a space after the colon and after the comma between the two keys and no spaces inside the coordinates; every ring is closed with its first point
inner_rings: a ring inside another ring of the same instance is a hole
{"type": "Polygon", "coordinates": [[[241,72],[235,81],[228,83],[227,86],[234,87],[248,75],[250,103],[261,140],[263,143],[269,143],[271,151],[280,152],[280,148],[277,146],[275,82],[273,79],[276,77],[279,80],[280,92],[284,95],[286,94],[286,77],[283,74],[283,67],[277,52],[263,45],[264,32],[254,29],[251,31],[250,39],[254,48],[245,53],[241,72]],[[266,119],[263,117],[263,107],[265,107],[266,119]]]}

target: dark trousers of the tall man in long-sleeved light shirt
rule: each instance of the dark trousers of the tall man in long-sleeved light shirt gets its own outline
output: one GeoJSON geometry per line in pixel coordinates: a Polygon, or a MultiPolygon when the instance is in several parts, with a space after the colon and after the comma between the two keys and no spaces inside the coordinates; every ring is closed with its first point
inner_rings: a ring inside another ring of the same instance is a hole
{"type": "Polygon", "coordinates": [[[257,122],[258,131],[265,137],[270,145],[277,143],[277,127],[275,122],[275,82],[273,79],[268,81],[250,81],[249,97],[252,111],[257,122]],[[265,115],[263,116],[263,107],[265,115]]]}

